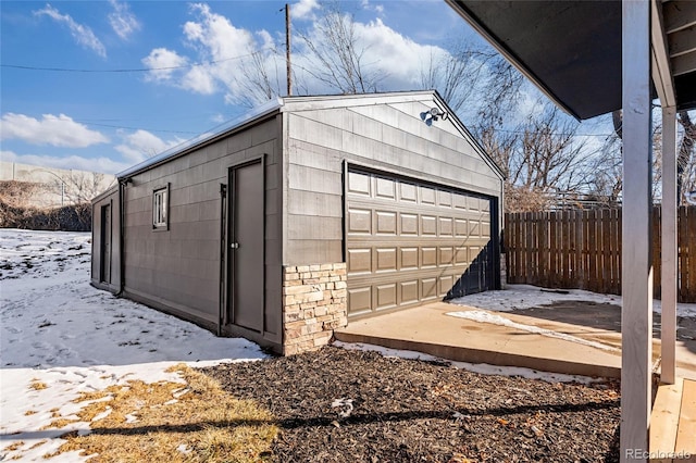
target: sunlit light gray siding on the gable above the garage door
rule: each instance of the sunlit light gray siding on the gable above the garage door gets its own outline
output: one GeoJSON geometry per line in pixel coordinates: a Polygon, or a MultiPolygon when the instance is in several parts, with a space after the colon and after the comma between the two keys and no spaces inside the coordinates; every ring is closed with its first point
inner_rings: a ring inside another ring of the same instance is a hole
{"type": "Polygon", "coordinates": [[[427,126],[422,101],[321,109],[286,104],[284,263],[343,262],[344,161],[501,198],[499,174],[450,120],[427,126]]]}

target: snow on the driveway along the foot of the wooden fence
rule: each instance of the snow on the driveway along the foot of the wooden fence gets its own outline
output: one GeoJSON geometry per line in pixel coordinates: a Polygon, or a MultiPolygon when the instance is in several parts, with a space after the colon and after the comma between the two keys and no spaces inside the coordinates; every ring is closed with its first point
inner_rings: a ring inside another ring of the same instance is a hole
{"type": "MultiPolygon", "coordinates": [[[[452,299],[449,302],[458,305],[468,305],[499,312],[509,312],[515,309],[531,309],[539,305],[548,305],[562,301],[591,301],[621,305],[621,296],[599,295],[582,289],[563,290],[568,293],[544,291],[536,286],[506,285],[505,289],[497,291],[478,292],[452,299]]],[[[662,306],[659,300],[652,301],[652,311],[661,313],[662,306]]],[[[679,316],[696,317],[696,304],[676,304],[679,316]]]]}

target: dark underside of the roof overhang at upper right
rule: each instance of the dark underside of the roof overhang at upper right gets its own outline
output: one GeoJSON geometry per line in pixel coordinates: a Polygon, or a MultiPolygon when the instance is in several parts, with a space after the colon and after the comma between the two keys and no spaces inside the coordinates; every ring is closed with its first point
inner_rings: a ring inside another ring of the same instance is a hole
{"type": "MultiPolygon", "coordinates": [[[[584,120],[621,109],[620,1],[445,1],[570,114],[584,120]]],[[[696,2],[651,1],[664,45],[662,78],[678,110],[696,108],[696,2]]]]}

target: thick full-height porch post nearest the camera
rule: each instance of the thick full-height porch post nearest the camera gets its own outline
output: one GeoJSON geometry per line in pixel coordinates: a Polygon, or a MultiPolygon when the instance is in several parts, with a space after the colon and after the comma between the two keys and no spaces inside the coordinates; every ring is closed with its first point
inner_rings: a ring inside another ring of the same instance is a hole
{"type": "Polygon", "coordinates": [[[650,2],[622,2],[621,462],[645,461],[651,409],[650,2]]]}

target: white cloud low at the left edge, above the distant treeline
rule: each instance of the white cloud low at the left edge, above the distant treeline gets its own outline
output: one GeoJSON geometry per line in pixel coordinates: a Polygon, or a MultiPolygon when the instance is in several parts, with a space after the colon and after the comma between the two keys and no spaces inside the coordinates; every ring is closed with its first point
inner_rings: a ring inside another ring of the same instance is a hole
{"type": "Polygon", "coordinates": [[[69,148],[86,148],[109,141],[101,133],[90,130],[65,114],[44,114],[39,121],[14,113],[2,115],[0,139],[21,139],[32,145],[69,148]]]}

